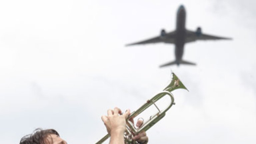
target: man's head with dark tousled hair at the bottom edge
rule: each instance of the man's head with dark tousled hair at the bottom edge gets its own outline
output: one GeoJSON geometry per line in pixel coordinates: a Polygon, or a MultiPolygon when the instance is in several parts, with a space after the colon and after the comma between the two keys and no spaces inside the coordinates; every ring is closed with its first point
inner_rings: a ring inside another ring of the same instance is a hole
{"type": "Polygon", "coordinates": [[[20,144],[67,144],[54,129],[36,129],[20,140],[20,144]]]}

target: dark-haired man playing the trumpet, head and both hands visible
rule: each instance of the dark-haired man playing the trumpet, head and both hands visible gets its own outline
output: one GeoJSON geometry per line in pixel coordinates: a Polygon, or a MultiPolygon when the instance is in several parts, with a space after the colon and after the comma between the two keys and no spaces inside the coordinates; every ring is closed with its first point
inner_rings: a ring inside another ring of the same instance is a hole
{"type": "MultiPolygon", "coordinates": [[[[102,116],[108,133],[110,134],[109,144],[124,144],[124,131],[126,129],[126,118],[130,114],[130,110],[127,110],[121,115],[119,108],[114,110],[108,110],[108,116],[102,116]],[[120,115],[119,115],[120,114],[120,115]]],[[[138,121],[136,126],[141,126],[142,121],[138,121]]],[[[142,132],[134,137],[141,144],[147,144],[148,137],[145,132],[142,132]]],[[[20,144],[67,144],[63,140],[59,133],[54,129],[36,129],[33,134],[26,135],[20,140],[20,144]]]]}

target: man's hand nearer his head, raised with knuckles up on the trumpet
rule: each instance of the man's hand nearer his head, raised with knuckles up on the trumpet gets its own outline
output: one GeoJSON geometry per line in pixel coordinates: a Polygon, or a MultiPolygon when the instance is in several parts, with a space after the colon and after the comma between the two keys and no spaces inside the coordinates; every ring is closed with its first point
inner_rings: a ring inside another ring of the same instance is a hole
{"type": "Polygon", "coordinates": [[[108,110],[108,116],[102,116],[101,119],[104,122],[108,133],[111,134],[124,134],[126,130],[126,118],[130,114],[130,110],[127,110],[124,114],[122,111],[115,107],[114,110],[108,110]]]}

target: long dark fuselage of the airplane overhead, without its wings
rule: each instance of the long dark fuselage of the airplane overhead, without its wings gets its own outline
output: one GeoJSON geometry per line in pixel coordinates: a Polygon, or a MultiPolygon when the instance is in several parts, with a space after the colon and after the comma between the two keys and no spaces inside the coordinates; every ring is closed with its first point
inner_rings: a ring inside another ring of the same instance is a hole
{"type": "Polygon", "coordinates": [[[184,6],[180,6],[177,12],[176,20],[176,38],[175,38],[175,58],[177,65],[180,64],[184,52],[186,39],[186,11],[184,6]]]}

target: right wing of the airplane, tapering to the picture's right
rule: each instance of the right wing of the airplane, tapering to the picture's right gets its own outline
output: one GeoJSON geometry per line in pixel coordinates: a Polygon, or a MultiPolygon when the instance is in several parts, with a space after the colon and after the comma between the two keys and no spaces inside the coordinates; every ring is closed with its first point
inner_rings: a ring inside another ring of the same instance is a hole
{"type": "Polygon", "coordinates": [[[232,40],[232,38],[213,36],[209,34],[198,33],[197,31],[186,30],[186,43],[196,40],[232,40]]]}

